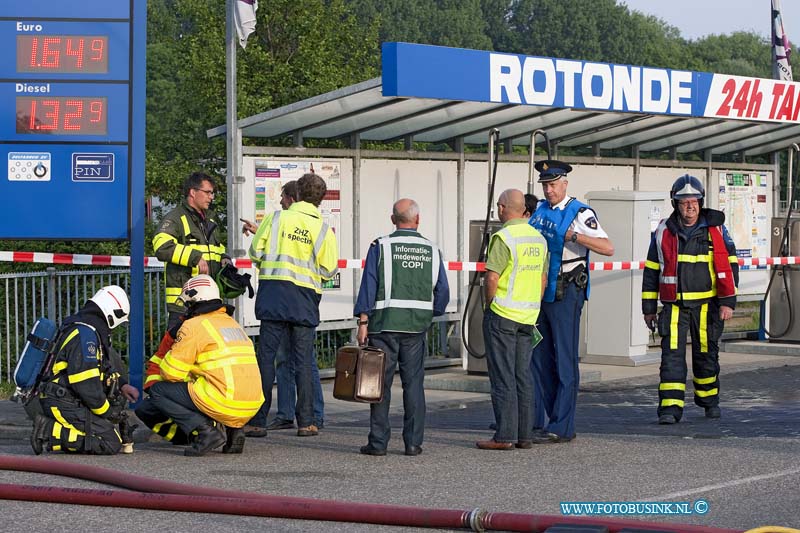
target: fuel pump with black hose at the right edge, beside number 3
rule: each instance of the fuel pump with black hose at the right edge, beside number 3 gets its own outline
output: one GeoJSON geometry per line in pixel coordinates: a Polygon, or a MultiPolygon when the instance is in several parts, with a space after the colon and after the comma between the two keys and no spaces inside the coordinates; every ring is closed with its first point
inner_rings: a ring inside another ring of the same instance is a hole
{"type": "MultiPolygon", "coordinates": [[[[792,144],[788,153],[787,184],[789,186],[789,207],[786,218],[772,220],[772,255],[790,257],[800,253],[800,220],[792,219],[792,211],[797,196],[797,169],[794,169],[794,154],[800,152],[800,146],[792,144]]],[[[800,166],[800,165],[798,165],[800,166]]],[[[761,313],[761,328],[769,335],[770,340],[782,342],[800,342],[800,331],[795,331],[795,314],[793,298],[800,296],[794,294],[794,289],[800,291],[800,270],[794,265],[772,265],[764,300],[770,306],[770,329],[765,325],[764,313],[761,313]],[[782,286],[772,292],[775,278],[779,278],[782,286]]]]}

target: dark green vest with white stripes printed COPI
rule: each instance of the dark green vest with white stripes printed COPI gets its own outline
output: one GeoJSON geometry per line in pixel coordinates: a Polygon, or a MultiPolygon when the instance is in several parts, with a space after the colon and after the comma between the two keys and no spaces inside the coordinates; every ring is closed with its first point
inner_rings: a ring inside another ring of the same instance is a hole
{"type": "Polygon", "coordinates": [[[417,232],[395,231],[378,239],[378,292],[369,333],[420,333],[433,318],[439,249],[417,232]]]}

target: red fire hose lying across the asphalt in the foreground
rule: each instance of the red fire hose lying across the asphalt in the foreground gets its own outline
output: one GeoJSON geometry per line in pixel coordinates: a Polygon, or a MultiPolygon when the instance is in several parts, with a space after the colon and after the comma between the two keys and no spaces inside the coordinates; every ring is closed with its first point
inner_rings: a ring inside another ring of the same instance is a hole
{"type": "MultiPolygon", "coordinates": [[[[739,531],[638,520],[492,513],[480,508],[431,509],[274,496],[196,487],[107,468],[20,456],[0,455],[0,469],[71,477],[128,489],[113,491],[0,483],[0,499],[5,500],[473,531],[545,531],[555,525],[567,524],[605,526],[611,533],[622,529],[681,533],[739,531]]],[[[800,533],[777,526],[765,526],[759,530],[761,533],[800,533]]]]}

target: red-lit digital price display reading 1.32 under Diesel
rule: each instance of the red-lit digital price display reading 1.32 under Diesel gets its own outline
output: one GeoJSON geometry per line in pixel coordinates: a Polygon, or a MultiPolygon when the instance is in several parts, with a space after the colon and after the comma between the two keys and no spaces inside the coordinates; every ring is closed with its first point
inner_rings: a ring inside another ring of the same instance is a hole
{"type": "Polygon", "coordinates": [[[104,97],[17,96],[17,133],[105,135],[107,109],[104,97]]]}

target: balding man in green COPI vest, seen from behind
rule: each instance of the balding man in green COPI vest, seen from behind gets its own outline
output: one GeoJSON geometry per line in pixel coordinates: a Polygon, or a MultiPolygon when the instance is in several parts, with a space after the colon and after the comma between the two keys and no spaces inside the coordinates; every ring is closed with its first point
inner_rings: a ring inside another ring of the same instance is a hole
{"type": "Polygon", "coordinates": [[[394,233],[372,241],[353,314],[358,343],[386,353],[383,401],[370,405],[370,431],[364,455],[386,455],[391,427],[392,380],[400,365],[403,383],[403,443],[406,455],[422,453],[425,429],[425,333],[434,316],[443,315],[450,286],[442,254],[417,232],[419,206],[410,198],[395,202],[394,233]]]}

